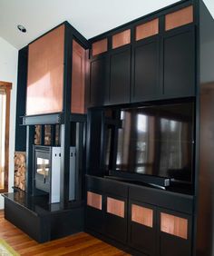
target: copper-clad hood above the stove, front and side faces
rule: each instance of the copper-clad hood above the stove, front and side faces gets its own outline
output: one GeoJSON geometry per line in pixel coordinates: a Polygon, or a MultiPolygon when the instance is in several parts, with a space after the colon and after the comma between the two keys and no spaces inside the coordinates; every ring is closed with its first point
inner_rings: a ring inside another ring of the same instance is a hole
{"type": "Polygon", "coordinates": [[[63,113],[70,101],[72,113],[85,113],[87,70],[87,46],[67,23],[29,44],[26,115],[63,113]]]}

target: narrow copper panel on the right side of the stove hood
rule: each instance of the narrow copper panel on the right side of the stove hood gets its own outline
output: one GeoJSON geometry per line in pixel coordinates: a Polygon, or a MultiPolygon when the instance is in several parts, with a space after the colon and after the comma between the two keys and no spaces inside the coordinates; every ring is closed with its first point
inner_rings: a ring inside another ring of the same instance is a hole
{"type": "Polygon", "coordinates": [[[72,113],[85,113],[86,50],[73,40],[72,113]]]}

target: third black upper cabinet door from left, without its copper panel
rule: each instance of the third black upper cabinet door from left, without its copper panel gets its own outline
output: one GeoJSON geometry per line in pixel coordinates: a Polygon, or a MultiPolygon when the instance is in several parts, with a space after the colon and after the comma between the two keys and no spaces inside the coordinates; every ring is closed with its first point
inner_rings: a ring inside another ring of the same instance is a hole
{"type": "Polygon", "coordinates": [[[152,100],[160,94],[159,53],[158,37],[137,42],[133,47],[131,102],[152,100]]]}

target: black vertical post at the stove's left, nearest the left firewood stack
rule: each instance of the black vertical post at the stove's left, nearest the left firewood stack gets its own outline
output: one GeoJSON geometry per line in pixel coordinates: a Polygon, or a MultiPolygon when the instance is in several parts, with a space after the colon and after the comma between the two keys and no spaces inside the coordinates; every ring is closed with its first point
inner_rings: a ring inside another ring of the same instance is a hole
{"type": "Polygon", "coordinates": [[[34,144],[34,125],[26,127],[26,192],[33,192],[33,144],[34,144]]]}

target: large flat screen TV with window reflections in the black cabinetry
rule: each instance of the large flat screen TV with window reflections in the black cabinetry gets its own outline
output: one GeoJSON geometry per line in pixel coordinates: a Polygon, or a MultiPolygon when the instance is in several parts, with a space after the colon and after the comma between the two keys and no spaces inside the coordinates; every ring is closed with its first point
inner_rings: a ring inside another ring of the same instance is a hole
{"type": "Polygon", "coordinates": [[[120,115],[121,127],[114,136],[114,173],[192,182],[194,103],[124,108],[120,115]]]}

